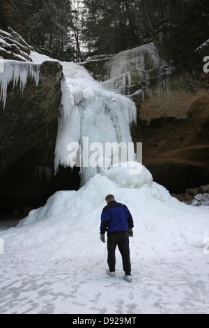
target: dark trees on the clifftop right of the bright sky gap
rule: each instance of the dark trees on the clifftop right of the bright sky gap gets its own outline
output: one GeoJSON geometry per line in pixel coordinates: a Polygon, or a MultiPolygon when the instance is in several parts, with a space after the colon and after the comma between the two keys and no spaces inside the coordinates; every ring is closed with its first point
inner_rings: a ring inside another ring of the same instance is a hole
{"type": "Polygon", "coordinates": [[[84,0],[89,52],[117,53],[147,42],[162,48],[177,68],[191,67],[208,39],[208,0],[84,0]]]}

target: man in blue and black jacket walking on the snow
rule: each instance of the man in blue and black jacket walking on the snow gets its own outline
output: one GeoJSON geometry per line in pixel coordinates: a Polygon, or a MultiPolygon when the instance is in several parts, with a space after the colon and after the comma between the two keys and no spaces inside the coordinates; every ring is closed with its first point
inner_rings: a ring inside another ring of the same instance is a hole
{"type": "Polygon", "coordinates": [[[101,215],[100,239],[105,243],[105,232],[107,232],[107,263],[109,270],[107,274],[116,276],[116,246],[122,255],[124,279],[132,281],[129,237],[133,237],[134,222],[129,209],[125,204],[116,202],[114,195],[105,198],[107,206],[101,215]]]}

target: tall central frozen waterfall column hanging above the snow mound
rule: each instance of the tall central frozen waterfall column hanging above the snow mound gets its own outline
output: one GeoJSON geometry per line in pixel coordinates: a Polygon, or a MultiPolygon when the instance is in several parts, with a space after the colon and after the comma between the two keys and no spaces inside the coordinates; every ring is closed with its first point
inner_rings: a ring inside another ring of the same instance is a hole
{"type": "Polygon", "coordinates": [[[116,154],[114,150],[107,154],[105,144],[115,143],[122,147],[132,144],[130,125],[136,123],[137,111],[130,99],[105,90],[81,66],[63,63],[63,72],[55,170],[59,165],[73,167],[76,164],[69,152],[74,148],[75,157],[79,152],[84,185],[95,174],[111,166],[116,154]],[[91,156],[95,158],[95,165],[88,162],[91,156]]]}

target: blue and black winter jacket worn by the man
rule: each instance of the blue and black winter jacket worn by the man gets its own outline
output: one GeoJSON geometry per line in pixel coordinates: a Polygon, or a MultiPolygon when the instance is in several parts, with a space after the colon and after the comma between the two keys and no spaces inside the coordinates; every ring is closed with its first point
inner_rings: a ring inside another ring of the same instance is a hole
{"type": "Polygon", "coordinates": [[[129,209],[125,204],[112,200],[104,207],[101,215],[100,234],[115,231],[127,231],[134,227],[129,209]]]}

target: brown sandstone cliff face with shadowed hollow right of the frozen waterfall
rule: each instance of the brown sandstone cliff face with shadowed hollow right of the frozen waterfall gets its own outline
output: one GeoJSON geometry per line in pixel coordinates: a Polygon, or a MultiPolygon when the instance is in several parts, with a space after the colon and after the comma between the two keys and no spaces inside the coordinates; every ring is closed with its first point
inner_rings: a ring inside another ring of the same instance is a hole
{"type": "Polygon", "coordinates": [[[169,95],[154,91],[138,104],[134,142],[143,142],[144,165],[173,193],[209,181],[208,82],[208,75],[201,73],[192,82],[192,92],[185,88],[185,78],[172,77],[171,88],[172,83],[176,87],[169,95]]]}

